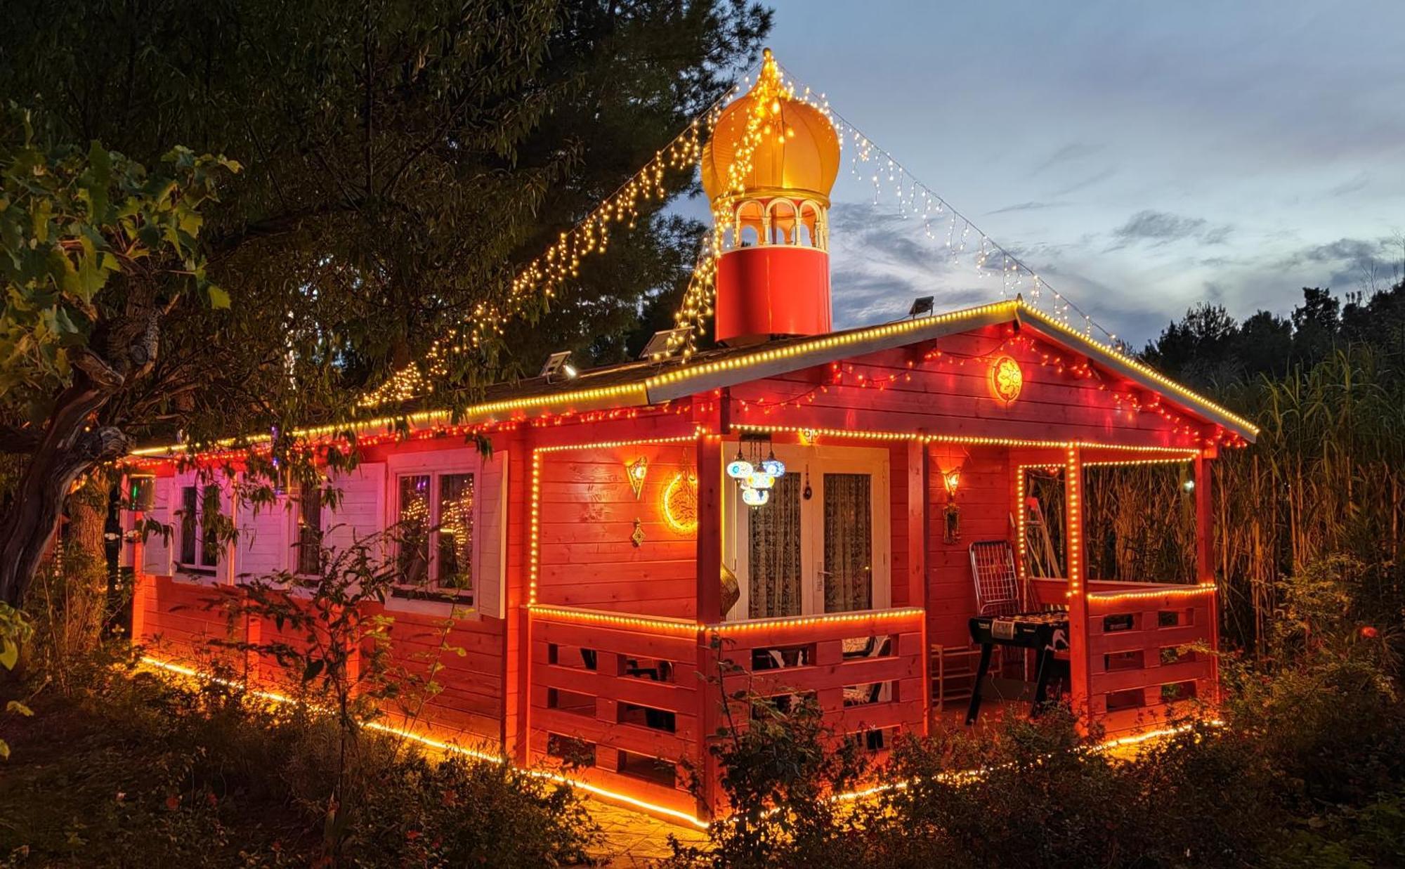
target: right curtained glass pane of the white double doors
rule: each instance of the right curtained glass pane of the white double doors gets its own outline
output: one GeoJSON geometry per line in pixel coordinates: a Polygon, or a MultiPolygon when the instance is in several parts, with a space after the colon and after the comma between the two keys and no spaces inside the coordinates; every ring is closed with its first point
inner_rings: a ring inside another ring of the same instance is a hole
{"type": "Polygon", "coordinates": [[[825,474],[825,612],[873,609],[873,477],[825,474]]]}

